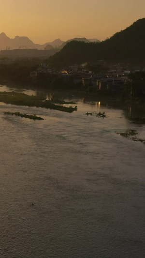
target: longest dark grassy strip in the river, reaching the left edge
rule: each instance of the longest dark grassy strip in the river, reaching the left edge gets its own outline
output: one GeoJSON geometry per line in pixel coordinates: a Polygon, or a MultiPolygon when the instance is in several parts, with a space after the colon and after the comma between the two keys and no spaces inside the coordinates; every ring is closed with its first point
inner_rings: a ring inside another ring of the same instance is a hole
{"type": "Polygon", "coordinates": [[[36,106],[36,107],[45,107],[50,109],[56,109],[64,112],[72,113],[77,110],[77,106],[75,107],[66,107],[66,106],[58,106],[54,103],[45,100],[44,97],[38,96],[29,96],[20,92],[0,92],[0,102],[4,102],[6,104],[18,105],[18,106],[36,106]]]}

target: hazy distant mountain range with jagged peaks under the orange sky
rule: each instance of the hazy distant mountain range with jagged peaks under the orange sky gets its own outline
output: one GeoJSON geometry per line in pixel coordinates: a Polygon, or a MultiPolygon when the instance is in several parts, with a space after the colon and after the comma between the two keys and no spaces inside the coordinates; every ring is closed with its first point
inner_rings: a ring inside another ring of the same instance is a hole
{"type": "Polygon", "coordinates": [[[53,42],[47,42],[43,45],[40,45],[40,44],[34,44],[28,37],[15,36],[14,39],[11,39],[7,37],[7,35],[4,32],[2,32],[0,33],[0,49],[1,50],[15,49],[15,48],[20,48],[20,49],[37,48],[37,49],[48,49],[48,50],[52,50],[54,48],[61,49],[63,48],[63,46],[65,46],[68,42],[72,40],[84,41],[84,42],[99,41],[97,39],[87,40],[86,38],[75,38],[64,42],[60,39],[56,39],[53,42]]]}

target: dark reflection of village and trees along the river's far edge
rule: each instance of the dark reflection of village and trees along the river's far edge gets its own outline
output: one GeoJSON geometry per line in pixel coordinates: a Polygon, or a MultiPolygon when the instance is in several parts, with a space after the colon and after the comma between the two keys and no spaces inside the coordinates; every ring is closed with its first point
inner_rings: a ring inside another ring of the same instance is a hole
{"type": "MultiPolygon", "coordinates": [[[[78,103],[82,104],[81,109],[83,108],[84,104],[89,104],[89,108],[91,112],[100,112],[104,109],[120,109],[122,110],[122,116],[125,117],[127,120],[131,121],[131,119],[136,119],[136,118],[144,118],[145,117],[145,106],[142,105],[137,105],[137,104],[132,104],[132,103],[124,103],[124,102],[112,102],[109,100],[102,100],[102,101],[95,101],[96,97],[93,96],[87,96],[85,94],[85,97],[81,97],[77,95],[77,93],[72,95],[72,93],[66,93],[66,92],[61,92],[61,91],[47,91],[47,90],[37,90],[37,91],[32,91],[32,90],[24,90],[24,92],[28,95],[35,95],[38,97],[43,97],[46,100],[53,101],[53,100],[61,100],[61,101],[73,101],[75,105],[78,105],[78,103]]],[[[100,98],[100,97],[99,97],[100,98]]],[[[99,99],[98,98],[98,99],[99,99]]],[[[63,105],[65,104],[57,104],[57,105],[63,105]]],[[[84,109],[85,110],[85,109],[84,109]]],[[[121,117],[120,117],[121,118],[121,117]]],[[[142,126],[140,124],[140,126],[142,126]]]]}

